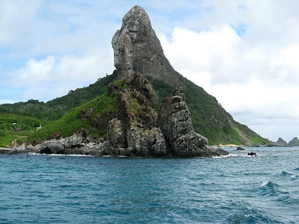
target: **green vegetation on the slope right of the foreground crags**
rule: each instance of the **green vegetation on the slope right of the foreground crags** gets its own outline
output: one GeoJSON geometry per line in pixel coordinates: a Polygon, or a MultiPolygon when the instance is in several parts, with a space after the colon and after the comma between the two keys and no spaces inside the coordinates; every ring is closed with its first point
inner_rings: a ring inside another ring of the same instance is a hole
{"type": "MultiPolygon", "coordinates": [[[[256,144],[265,144],[269,140],[262,138],[246,125],[236,122],[218,103],[215,97],[206,93],[188,79],[179,75],[185,85],[182,91],[186,97],[186,104],[192,116],[194,130],[205,136],[210,145],[216,144],[248,144],[250,140],[256,144]],[[243,134],[243,137],[241,137],[243,134]],[[244,140],[247,138],[248,141],[244,140]]],[[[162,80],[151,80],[151,83],[159,97],[159,105],[155,107],[159,111],[162,101],[170,96],[173,88],[162,80]]]]}

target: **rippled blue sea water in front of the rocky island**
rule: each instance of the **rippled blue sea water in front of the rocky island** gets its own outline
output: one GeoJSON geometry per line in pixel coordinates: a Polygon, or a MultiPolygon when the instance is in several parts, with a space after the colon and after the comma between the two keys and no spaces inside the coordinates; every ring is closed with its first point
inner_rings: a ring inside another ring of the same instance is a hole
{"type": "Polygon", "coordinates": [[[228,150],[184,159],[0,155],[0,223],[298,224],[299,147],[228,150]]]}

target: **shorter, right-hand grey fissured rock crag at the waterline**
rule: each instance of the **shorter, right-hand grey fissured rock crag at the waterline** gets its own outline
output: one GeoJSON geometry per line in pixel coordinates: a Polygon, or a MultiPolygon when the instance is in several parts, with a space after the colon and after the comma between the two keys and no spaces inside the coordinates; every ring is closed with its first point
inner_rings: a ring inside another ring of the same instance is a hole
{"type": "Polygon", "coordinates": [[[157,123],[165,137],[168,152],[173,156],[211,157],[223,153],[207,147],[208,139],[193,131],[185,97],[177,91],[163,101],[157,123]]]}

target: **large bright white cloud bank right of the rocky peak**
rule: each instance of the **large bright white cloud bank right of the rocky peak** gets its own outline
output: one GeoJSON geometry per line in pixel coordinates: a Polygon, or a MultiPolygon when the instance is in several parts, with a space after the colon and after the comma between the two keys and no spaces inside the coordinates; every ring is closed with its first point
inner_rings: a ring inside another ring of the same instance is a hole
{"type": "Polygon", "coordinates": [[[293,123],[293,128],[283,129],[295,134],[291,131],[299,123],[298,44],[253,46],[228,24],[200,32],[175,27],[171,38],[160,39],[173,67],[215,96],[238,121],[272,140],[279,136],[269,135],[272,132],[263,125],[280,129],[293,123]],[[281,122],[286,117],[289,123],[281,122]]]}

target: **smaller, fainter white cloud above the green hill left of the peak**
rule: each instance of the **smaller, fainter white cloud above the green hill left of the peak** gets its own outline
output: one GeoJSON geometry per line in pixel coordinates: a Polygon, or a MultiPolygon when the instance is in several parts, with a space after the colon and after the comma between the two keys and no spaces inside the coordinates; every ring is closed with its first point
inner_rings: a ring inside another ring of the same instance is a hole
{"type": "Polygon", "coordinates": [[[48,101],[94,83],[111,71],[112,63],[98,56],[65,55],[59,60],[49,55],[46,59],[29,59],[23,68],[14,72],[13,85],[27,88],[25,99],[48,101]]]}

